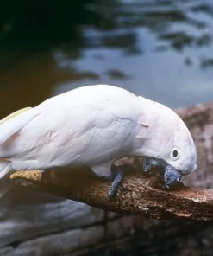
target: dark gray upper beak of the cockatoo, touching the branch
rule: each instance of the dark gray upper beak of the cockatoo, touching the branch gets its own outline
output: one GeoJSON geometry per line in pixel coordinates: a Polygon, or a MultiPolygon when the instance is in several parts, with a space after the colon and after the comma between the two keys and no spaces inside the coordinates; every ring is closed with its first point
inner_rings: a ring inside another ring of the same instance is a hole
{"type": "Polygon", "coordinates": [[[174,169],[171,165],[166,166],[166,172],[164,174],[164,181],[166,189],[171,189],[177,183],[180,182],[182,175],[178,170],[174,169]]]}

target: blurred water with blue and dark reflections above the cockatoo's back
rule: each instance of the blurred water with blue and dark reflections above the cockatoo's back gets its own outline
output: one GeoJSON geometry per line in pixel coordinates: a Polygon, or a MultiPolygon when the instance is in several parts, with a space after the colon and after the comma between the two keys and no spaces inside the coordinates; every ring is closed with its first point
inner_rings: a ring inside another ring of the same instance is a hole
{"type": "Polygon", "coordinates": [[[31,22],[18,12],[1,16],[1,117],[97,83],[173,108],[213,99],[211,0],[103,2],[78,2],[69,13],[62,1],[49,16],[47,6],[32,7],[37,23],[28,6],[21,17],[28,11],[31,22]]]}

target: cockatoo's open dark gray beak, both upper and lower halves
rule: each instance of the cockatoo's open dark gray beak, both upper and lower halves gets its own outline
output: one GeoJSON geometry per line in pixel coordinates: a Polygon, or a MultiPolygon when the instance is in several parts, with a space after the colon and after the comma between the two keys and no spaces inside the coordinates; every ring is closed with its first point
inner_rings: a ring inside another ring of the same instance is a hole
{"type": "Polygon", "coordinates": [[[170,164],[158,158],[145,158],[143,162],[143,171],[145,173],[152,173],[154,167],[160,167],[160,170],[153,173],[163,178],[166,189],[171,189],[180,182],[182,175],[178,170],[173,168],[170,164]]]}

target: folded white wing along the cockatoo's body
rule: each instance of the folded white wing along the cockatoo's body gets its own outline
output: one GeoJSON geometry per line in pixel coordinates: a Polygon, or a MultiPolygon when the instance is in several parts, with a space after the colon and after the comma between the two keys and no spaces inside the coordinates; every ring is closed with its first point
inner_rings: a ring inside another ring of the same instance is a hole
{"type": "Polygon", "coordinates": [[[91,166],[125,155],[138,118],[135,99],[91,91],[61,94],[0,125],[0,157],[20,170],[91,166]]]}

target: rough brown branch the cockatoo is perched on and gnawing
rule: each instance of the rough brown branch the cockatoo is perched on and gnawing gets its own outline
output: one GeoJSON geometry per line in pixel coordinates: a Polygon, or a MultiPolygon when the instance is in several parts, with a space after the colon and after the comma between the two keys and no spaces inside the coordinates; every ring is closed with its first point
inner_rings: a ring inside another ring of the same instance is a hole
{"type": "Polygon", "coordinates": [[[182,183],[175,191],[161,189],[157,177],[127,171],[113,202],[110,182],[97,178],[89,168],[17,171],[9,178],[26,187],[41,189],[74,201],[122,214],[155,219],[213,221],[213,190],[191,189],[182,183]]]}

